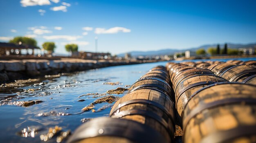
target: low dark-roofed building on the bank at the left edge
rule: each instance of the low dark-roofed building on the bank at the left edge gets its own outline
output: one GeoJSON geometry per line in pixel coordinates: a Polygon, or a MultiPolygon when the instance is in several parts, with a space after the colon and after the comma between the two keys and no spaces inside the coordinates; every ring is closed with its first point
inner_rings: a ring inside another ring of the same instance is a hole
{"type": "Polygon", "coordinates": [[[0,42],[0,55],[34,55],[35,50],[40,50],[40,48],[25,44],[0,42]]]}

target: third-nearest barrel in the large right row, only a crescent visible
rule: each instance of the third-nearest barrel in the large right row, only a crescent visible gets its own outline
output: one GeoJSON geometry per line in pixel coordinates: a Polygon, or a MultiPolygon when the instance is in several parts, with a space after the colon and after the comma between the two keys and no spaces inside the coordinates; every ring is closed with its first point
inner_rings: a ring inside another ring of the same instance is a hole
{"type": "Polygon", "coordinates": [[[192,69],[183,71],[181,74],[179,74],[177,77],[175,77],[175,79],[173,81],[174,92],[176,92],[176,88],[185,79],[192,77],[194,75],[204,75],[204,74],[214,75],[214,73],[211,70],[204,69],[204,68],[192,68],[192,69]]]}

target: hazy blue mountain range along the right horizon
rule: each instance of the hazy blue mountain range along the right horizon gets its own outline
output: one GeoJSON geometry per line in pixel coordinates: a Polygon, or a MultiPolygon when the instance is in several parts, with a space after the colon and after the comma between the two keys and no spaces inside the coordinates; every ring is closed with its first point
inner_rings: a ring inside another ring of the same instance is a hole
{"type": "MultiPolygon", "coordinates": [[[[233,43],[228,43],[228,48],[248,48],[248,47],[254,47],[256,46],[256,43],[252,43],[252,44],[233,44],[233,43]]],[[[137,56],[157,56],[157,55],[173,55],[176,52],[184,52],[187,50],[190,51],[196,51],[199,48],[203,48],[205,50],[207,50],[210,47],[216,47],[217,44],[207,44],[207,45],[202,45],[199,47],[194,47],[194,48],[187,48],[187,49],[183,49],[183,50],[178,50],[178,49],[162,49],[162,50],[158,50],[158,51],[131,51],[128,52],[131,54],[131,56],[137,57],[137,56]]],[[[223,48],[224,44],[220,44],[220,48],[223,48]]],[[[118,57],[124,57],[125,53],[121,53],[119,55],[117,55],[118,57]]]]}

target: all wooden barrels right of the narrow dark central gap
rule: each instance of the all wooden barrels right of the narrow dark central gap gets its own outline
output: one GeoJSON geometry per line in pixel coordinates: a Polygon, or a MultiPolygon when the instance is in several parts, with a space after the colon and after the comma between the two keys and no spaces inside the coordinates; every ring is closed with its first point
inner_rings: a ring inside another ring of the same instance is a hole
{"type": "Polygon", "coordinates": [[[254,65],[182,62],[166,69],[184,143],[256,142],[256,86],[244,84],[255,75],[254,65]]]}

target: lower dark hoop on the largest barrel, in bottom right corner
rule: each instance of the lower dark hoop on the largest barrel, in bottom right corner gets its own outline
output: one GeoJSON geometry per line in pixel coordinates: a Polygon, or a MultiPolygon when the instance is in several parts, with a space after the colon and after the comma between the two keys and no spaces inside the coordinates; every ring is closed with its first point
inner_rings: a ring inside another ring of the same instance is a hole
{"type": "Polygon", "coordinates": [[[231,130],[218,131],[204,137],[200,143],[223,143],[241,136],[256,134],[256,125],[238,126],[231,130]]]}

